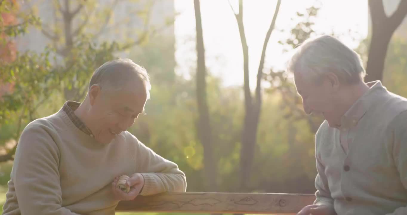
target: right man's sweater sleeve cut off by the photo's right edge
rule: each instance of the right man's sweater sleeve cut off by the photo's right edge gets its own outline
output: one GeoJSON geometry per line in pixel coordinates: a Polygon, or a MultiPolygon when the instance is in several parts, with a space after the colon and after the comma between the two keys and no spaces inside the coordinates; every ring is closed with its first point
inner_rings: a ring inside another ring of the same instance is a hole
{"type": "MultiPolygon", "coordinates": [[[[392,122],[393,136],[393,159],[400,181],[407,194],[407,111],[396,116],[392,122]]],[[[396,208],[392,213],[386,215],[405,215],[407,214],[407,203],[404,207],[396,208]]]]}

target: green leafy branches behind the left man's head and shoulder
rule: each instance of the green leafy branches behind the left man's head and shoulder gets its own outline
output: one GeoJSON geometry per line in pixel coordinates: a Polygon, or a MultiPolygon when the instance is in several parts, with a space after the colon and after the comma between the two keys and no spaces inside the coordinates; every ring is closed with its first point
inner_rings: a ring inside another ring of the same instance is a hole
{"type": "Polygon", "coordinates": [[[10,119],[18,119],[17,131],[13,134],[13,137],[18,137],[22,126],[37,118],[41,105],[53,93],[63,93],[65,86],[68,89],[72,86],[81,89],[74,96],[77,101],[83,99],[92,72],[113,58],[116,47],[115,43],[95,46],[84,38],[61,64],[51,64],[50,56],[56,54],[49,48],[40,54],[19,53],[9,63],[0,61],[4,71],[8,71],[0,74],[0,80],[13,86],[11,92],[4,94],[0,100],[0,125],[15,123],[10,119]]]}

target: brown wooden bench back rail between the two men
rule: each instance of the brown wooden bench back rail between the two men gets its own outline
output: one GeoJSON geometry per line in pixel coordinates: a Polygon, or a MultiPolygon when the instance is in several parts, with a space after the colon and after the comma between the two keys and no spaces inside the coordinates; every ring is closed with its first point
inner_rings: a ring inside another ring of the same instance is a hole
{"type": "Polygon", "coordinates": [[[313,204],[313,194],[162,193],[122,201],[117,212],[296,214],[313,204]]]}

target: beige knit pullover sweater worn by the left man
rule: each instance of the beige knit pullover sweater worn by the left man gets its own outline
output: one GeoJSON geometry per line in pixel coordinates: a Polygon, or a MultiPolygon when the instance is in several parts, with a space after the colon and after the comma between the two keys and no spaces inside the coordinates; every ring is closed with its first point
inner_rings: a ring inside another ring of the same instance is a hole
{"type": "Polygon", "coordinates": [[[174,162],[155,154],[129,132],[108,145],[96,143],[59,112],[26,126],[20,137],[4,215],[112,215],[112,182],[142,173],[140,195],[185,192],[174,162]]]}

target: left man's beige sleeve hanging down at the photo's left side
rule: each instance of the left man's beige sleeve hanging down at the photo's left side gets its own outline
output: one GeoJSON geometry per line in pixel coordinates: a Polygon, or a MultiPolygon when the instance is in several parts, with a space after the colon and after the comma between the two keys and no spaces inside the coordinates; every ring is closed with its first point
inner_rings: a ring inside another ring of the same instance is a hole
{"type": "Polygon", "coordinates": [[[27,125],[15,152],[11,180],[21,214],[77,215],[61,206],[59,149],[51,136],[55,131],[41,121],[27,125]]]}

